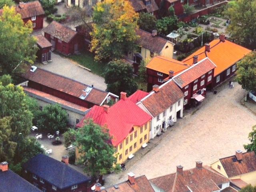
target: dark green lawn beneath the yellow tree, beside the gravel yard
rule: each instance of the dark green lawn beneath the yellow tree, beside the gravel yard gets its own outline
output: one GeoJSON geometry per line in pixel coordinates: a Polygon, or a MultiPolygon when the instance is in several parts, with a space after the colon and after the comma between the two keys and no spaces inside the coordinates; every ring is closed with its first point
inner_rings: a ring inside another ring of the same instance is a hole
{"type": "Polygon", "coordinates": [[[71,55],[68,56],[71,60],[74,60],[78,64],[89,68],[91,72],[99,76],[103,76],[103,73],[106,68],[106,63],[94,61],[94,55],[90,52],[82,52],[80,55],[71,55]]]}

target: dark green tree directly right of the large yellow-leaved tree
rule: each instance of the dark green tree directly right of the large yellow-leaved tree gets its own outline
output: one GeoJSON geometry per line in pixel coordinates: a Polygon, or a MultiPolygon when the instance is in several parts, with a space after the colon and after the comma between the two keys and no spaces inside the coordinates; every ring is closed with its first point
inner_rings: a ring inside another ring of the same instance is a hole
{"type": "Polygon", "coordinates": [[[156,17],[149,13],[140,13],[138,19],[138,26],[140,29],[152,32],[152,30],[156,29],[156,17]]]}

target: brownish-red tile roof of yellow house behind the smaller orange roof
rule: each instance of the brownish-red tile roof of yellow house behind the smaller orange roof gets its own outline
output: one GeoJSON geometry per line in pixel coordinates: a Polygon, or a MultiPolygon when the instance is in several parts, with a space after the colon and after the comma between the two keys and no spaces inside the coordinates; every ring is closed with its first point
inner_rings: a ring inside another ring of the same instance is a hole
{"type": "Polygon", "coordinates": [[[140,38],[138,39],[138,44],[155,53],[160,53],[164,48],[165,44],[168,42],[168,40],[162,37],[153,37],[151,33],[146,32],[142,29],[137,29],[136,34],[140,36],[140,38]]]}

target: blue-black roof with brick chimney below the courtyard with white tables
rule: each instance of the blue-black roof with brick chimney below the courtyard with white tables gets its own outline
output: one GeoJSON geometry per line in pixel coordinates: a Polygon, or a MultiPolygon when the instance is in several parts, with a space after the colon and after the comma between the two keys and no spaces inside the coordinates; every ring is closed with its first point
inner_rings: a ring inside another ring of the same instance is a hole
{"type": "Polygon", "coordinates": [[[23,168],[59,189],[90,181],[90,178],[70,166],[44,154],[38,154],[23,164],[23,168]]]}

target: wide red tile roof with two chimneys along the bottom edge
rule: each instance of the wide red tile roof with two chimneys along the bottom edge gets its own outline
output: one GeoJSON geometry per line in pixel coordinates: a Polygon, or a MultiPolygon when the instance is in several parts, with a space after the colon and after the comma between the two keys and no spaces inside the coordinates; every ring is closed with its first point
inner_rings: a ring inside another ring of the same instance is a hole
{"type": "Polygon", "coordinates": [[[150,180],[165,192],[212,192],[220,190],[218,185],[227,182],[227,178],[208,167],[192,168],[150,180]]]}

